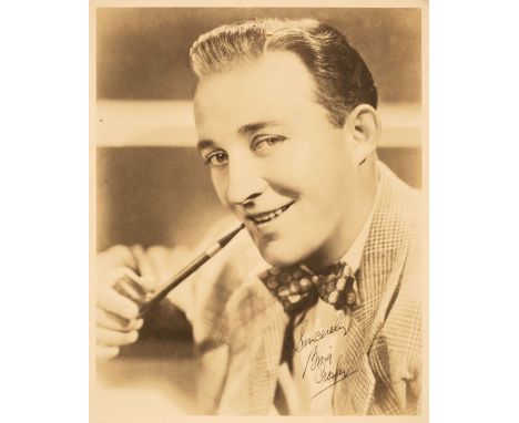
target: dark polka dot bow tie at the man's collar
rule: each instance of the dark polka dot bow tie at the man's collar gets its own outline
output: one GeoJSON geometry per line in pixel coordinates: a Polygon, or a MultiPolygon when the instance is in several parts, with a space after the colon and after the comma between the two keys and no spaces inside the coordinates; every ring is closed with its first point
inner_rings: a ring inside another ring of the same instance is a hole
{"type": "Polygon", "coordinates": [[[344,261],[329,266],[322,275],[313,275],[299,266],[273,267],[261,274],[260,279],[291,316],[309,309],[318,298],[336,310],[353,310],[359,305],[355,276],[344,261]]]}

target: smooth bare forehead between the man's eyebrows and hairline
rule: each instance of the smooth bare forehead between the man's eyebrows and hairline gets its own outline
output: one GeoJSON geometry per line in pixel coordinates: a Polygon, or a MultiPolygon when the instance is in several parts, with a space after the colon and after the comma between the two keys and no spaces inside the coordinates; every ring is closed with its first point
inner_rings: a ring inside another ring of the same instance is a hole
{"type": "Polygon", "coordinates": [[[325,114],[315,102],[315,82],[292,52],[268,52],[253,63],[206,76],[194,99],[199,135],[261,121],[325,114]]]}

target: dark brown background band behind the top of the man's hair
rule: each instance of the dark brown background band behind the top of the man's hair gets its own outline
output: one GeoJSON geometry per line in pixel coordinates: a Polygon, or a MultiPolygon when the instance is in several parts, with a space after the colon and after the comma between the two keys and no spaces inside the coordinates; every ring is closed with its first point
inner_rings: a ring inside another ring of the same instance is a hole
{"type": "Polygon", "coordinates": [[[191,100],[191,44],[220,24],[263,17],[334,25],[368,63],[380,102],[420,101],[420,10],[398,8],[99,9],[98,97],[191,100]]]}

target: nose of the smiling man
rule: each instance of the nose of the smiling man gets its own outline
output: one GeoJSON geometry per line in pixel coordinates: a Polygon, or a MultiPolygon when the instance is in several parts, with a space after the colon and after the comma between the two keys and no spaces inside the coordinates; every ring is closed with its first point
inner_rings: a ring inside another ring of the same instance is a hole
{"type": "Polygon", "coordinates": [[[251,205],[267,185],[248,153],[230,158],[227,176],[226,199],[233,205],[251,205]]]}

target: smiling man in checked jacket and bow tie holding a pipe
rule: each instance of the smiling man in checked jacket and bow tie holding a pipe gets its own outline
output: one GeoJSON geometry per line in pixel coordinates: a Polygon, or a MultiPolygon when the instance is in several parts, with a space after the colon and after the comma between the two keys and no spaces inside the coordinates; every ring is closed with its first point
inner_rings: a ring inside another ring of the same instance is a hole
{"type": "MultiPolygon", "coordinates": [[[[419,413],[420,200],[377,159],[363,59],[329,25],[272,19],[217,28],[191,59],[199,151],[246,227],[170,298],[193,324],[200,411],[419,413]]],[[[150,289],[153,261],[100,255],[100,358],[142,326],[120,266],[150,289]]]]}

